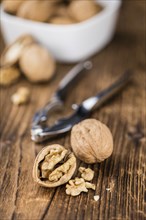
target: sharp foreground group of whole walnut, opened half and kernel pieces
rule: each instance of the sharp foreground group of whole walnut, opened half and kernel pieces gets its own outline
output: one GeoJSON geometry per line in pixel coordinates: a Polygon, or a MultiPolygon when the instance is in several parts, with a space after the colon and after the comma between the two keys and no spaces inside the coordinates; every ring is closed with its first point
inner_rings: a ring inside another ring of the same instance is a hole
{"type": "Polygon", "coordinates": [[[80,177],[74,176],[77,159],[93,164],[107,159],[113,151],[113,138],[109,128],[96,119],[86,119],[71,131],[71,148],[54,144],[43,148],[33,166],[33,178],[41,186],[57,187],[66,184],[66,194],[77,196],[88,189],[95,190],[92,169],[79,167],[80,177]],[[75,177],[72,179],[72,177],[75,177]]]}

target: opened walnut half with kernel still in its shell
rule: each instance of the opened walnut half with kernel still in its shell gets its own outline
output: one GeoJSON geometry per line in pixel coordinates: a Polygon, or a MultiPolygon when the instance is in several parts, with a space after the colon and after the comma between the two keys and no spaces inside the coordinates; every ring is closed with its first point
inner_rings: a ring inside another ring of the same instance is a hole
{"type": "Polygon", "coordinates": [[[43,148],[33,166],[33,179],[39,185],[56,187],[68,182],[76,170],[73,153],[58,144],[43,148]]]}

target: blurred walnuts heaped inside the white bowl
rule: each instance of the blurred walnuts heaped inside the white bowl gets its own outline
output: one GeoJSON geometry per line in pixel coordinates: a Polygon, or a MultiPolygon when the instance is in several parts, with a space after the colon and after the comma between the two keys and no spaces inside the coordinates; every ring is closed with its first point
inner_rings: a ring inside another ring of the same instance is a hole
{"type": "Polygon", "coordinates": [[[95,0],[3,0],[3,8],[21,18],[52,24],[82,22],[102,9],[95,0]]]}

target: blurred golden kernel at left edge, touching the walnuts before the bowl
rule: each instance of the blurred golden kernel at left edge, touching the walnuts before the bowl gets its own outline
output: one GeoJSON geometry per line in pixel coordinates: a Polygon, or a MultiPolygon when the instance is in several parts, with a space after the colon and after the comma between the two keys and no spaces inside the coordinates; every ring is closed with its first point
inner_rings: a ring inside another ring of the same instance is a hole
{"type": "Polygon", "coordinates": [[[11,85],[16,82],[19,77],[20,71],[16,67],[4,66],[0,69],[0,85],[11,85]]]}

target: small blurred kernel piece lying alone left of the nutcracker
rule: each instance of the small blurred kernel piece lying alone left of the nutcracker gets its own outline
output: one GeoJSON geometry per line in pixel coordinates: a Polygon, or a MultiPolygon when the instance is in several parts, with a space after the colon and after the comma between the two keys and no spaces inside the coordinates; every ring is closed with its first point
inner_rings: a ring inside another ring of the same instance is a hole
{"type": "Polygon", "coordinates": [[[26,87],[20,87],[16,93],[11,96],[11,100],[15,105],[25,104],[29,101],[30,92],[26,87]]]}

